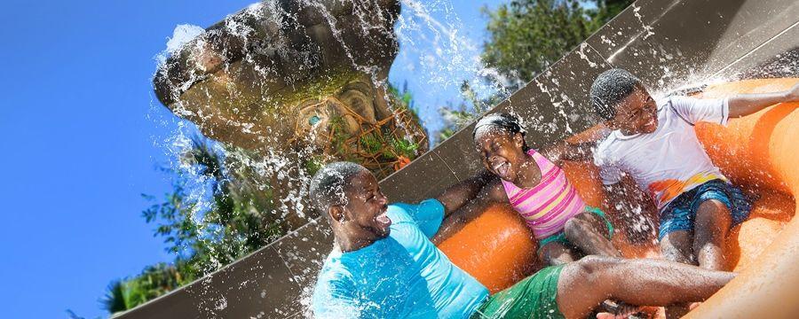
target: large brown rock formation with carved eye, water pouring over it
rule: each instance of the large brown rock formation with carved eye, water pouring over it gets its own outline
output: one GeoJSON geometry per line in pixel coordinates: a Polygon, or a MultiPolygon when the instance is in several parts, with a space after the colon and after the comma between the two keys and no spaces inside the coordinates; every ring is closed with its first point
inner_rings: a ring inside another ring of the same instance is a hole
{"type": "Polygon", "coordinates": [[[252,4],[171,52],[155,93],[227,144],[294,150],[287,156],[298,160],[323,153],[385,176],[413,156],[398,142],[416,145],[410,153],[427,149],[423,128],[387,85],[398,16],[394,0],[252,4]]]}

